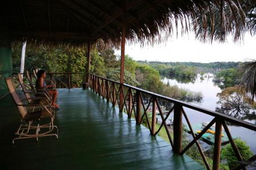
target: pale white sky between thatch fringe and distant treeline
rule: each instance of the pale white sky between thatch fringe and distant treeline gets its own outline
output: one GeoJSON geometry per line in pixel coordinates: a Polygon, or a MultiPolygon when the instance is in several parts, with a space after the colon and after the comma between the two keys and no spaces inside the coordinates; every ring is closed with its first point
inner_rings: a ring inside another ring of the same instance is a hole
{"type": "MultiPolygon", "coordinates": [[[[121,51],[115,51],[121,55],[121,51]]],[[[126,44],[125,54],[134,60],[170,61],[170,62],[200,62],[210,63],[215,61],[245,61],[256,59],[256,36],[245,34],[242,42],[234,43],[232,36],[228,36],[226,43],[201,43],[195,40],[195,35],[189,33],[184,36],[174,36],[168,42],[156,44],[154,47],[140,44],[126,44]]]]}

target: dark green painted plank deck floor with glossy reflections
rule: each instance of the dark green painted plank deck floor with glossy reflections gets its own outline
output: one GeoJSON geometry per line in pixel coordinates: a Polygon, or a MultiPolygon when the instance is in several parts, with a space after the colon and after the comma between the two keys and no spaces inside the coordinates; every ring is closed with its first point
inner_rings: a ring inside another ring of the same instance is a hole
{"type": "Polygon", "coordinates": [[[16,140],[19,115],[13,101],[0,101],[0,169],[203,169],[190,157],[119,113],[90,90],[60,89],[53,136],[16,140]]]}

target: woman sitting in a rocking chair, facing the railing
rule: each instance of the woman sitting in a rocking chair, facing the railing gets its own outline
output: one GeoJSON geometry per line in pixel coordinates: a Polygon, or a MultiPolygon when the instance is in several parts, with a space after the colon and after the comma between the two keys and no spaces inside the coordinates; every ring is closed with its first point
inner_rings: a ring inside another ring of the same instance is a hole
{"type": "Polygon", "coordinates": [[[37,73],[38,79],[36,80],[36,89],[45,89],[52,96],[52,106],[56,109],[59,109],[59,105],[56,103],[58,91],[55,89],[53,85],[46,85],[44,78],[46,78],[46,71],[40,70],[37,73]]]}

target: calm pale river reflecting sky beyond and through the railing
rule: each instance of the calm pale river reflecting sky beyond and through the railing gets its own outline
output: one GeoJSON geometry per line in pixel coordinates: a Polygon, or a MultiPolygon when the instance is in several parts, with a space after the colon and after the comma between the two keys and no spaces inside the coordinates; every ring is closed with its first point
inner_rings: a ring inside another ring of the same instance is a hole
{"type": "MultiPolygon", "coordinates": [[[[193,92],[201,92],[203,94],[203,100],[198,102],[191,102],[193,105],[197,105],[200,107],[204,107],[205,109],[213,110],[215,111],[215,108],[218,106],[219,98],[217,97],[217,93],[220,93],[222,90],[217,86],[214,85],[214,82],[212,81],[213,78],[204,78],[203,80],[200,79],[199,76],[194,81],[187,81],[187,82],[181,82],[177,81],[175,78],[163,78],[163,82],[167,84],[167,82],[170,83],[170,85],[177,85],[179,88],[184,88],[191,90],[193,92]]],[[[213,117],[204,113],[200,113],[198,111],[184,108],[185,112],[188,115],[189,121],[191,124],[196,123],[202,123],[202,122],[210,122],[212,121],[213,117]]],[[[255,123],[255,119],[253,121],[245,120],[251,123],[255,123]]],[[[184,118],[183,118],[184,122],[184,118]]],[[[184,122],[185,123],[185,122],[184,122]]],[[[230,132],[232,136],[240,137],[242,140],[245,140],[247,145],[251,147],[251,151],[253,151],[254,154],[256,154],[256,132],[248,130],[247,128],[243,127],[237,127],[237,126],[229,126],[230,132]]]]}

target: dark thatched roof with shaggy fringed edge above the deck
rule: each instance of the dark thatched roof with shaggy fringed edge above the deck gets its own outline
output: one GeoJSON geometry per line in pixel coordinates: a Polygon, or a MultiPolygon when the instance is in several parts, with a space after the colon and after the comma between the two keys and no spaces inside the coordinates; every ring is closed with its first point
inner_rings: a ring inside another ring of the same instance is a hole
{"type": "Polygon", "coordinates": [[[196,23],[201,23],[200,28],[209,33],[197,31],[203,40],[210,36],[221,40],[223,31],[224,35],[230,32],[225,28],[228,24],[243,28],[246,20],[246,3],[240,0],[9,0],[2,7],[12,40],[57,43],[83,44],[102,39],[116,45],[121,40],[123,21],[126,39],[132,42],[159,43],[173,34],[178,22],[183,26],[180,31],[187,31],[191,20],[192,28],[200,30],[196,23]],[[225,22],[221,34],[216,35],[216,16],[221,21],[233,18],[239,25],[225,22]]]}

